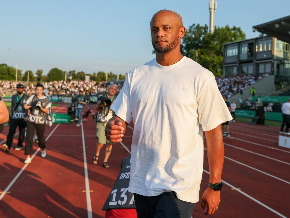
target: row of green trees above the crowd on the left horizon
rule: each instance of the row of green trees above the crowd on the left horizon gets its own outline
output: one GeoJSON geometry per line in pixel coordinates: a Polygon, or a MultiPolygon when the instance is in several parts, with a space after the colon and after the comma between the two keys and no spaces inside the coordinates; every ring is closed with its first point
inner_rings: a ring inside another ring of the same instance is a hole
{"type": "MultiPolygon", "coordinates": [[[[22,74],[22,70],[18,69],[17,72],[17,81],[27,81],[29,76],[30,82],[49,82],[49,81],[61,81],[65,80],[65,76],[67,80],[85,80],[85,76],[90,76],[90,80],[93,81],[106,81],[106,73],[99,71],[93,74],[86,74],[85,72],[76,72],[75,70],[71,70],[68,72],[62,71],[58,68],[52,68],[47,75],[43,75],[43,70],[38,69],[35,74],[31,70],[27,70],[22,74]],[[67,75],[66,75],[67,74],[67,75]]],[[[113,74],[112,72],[108,73],[108,81],[117,80],[118,75],[113,74]]],[[[125,76],[120,74],[119,80],[124,80],[125,76]]],[[[0,80],[6,81],[15,81],[16,80],[16,69],[12,66],[8,66],[7,64],[0,64],[0,80]]]]}

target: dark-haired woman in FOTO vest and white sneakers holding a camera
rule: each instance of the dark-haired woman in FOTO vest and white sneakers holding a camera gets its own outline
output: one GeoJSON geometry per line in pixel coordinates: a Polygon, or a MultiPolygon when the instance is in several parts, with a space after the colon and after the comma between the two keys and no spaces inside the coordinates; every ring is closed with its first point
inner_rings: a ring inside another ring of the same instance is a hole
{"type": "Polygon", "coordinates": [[[24,163],[31,163],[31,153],[32,153],[32,143],[33,135],[36,130],[38,137],[38,146],[41,148],[41,157],[46,156],[45,151],[45,124],[47,115],[51,108],[51,101],[43,94],[44,87],[41,84],[36,85],[36,93],[28,98],[24,108],[29,109],[29,117],[27,123],[26,131],[26,146],[25,146],[25,155],[27,155],[24,163]]]}

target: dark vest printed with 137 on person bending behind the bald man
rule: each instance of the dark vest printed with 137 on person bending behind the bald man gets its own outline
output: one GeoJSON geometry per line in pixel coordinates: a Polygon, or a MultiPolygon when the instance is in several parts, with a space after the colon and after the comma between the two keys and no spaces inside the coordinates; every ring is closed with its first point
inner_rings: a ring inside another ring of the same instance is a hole
{"type": "Polygon", "coordinates": [[[134,195],[128,192],[130,181],[131,156],[122,161],[122,169],[102,210],[117,208],[136,208],[134,195]]]}

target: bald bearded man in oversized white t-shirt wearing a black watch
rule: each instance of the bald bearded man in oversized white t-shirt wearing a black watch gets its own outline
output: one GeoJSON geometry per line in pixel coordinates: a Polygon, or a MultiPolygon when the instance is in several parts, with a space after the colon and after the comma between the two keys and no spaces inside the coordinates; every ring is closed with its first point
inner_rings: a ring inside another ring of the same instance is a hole
{"type": "Polygon", "coordinates": [[[150,27],[156,58],[128,73],[105,135],[121,142],[133,120],[128,191],[138,217],[188,217],[199,200],[205,132],[210,178],[201,206],[212,214],[222,187],[221,124],[232,117],[214,75],[180,53],[181,16],[161,10],[150,27]]]}

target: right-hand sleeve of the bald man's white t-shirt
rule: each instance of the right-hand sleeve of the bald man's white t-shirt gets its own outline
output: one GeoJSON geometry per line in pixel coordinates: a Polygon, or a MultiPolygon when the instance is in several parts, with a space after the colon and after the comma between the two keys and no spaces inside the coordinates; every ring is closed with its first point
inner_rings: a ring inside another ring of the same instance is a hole
{"type": "Polygon", "coordinates": [[[210,131],[218,125],[233,119],[218,90],[214,77],[204,85],[200,92],[197,112],[203,131],[210,131]]]}

